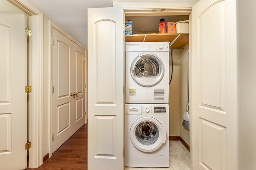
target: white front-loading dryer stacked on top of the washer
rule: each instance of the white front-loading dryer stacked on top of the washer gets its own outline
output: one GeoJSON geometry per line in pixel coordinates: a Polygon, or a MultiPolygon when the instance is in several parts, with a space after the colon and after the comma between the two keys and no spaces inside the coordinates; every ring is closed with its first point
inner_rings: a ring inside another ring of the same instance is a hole
{"type": "Polygon", "coordinates": [[[126,103],[168,103],[169,42],[125,43],[126,103]]]}

